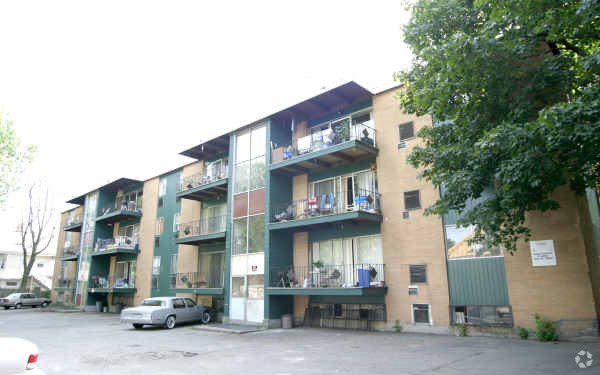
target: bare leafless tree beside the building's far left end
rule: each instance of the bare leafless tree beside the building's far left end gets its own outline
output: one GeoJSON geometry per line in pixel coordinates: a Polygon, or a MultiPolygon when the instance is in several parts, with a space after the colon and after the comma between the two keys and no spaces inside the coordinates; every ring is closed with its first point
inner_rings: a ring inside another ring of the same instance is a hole
{"type": "Polygon", "coordinates": [[[17,228],[23,250],[23,277],[21,289],[29,286],[31,268],[35,259],[50,246],[56,226],[53,225],[54,208],[48,189],[40,183],[32,183],[27,189],[27,206],[17,228]],[[45,190],[42,193],[42,190],[45,190]]]}

